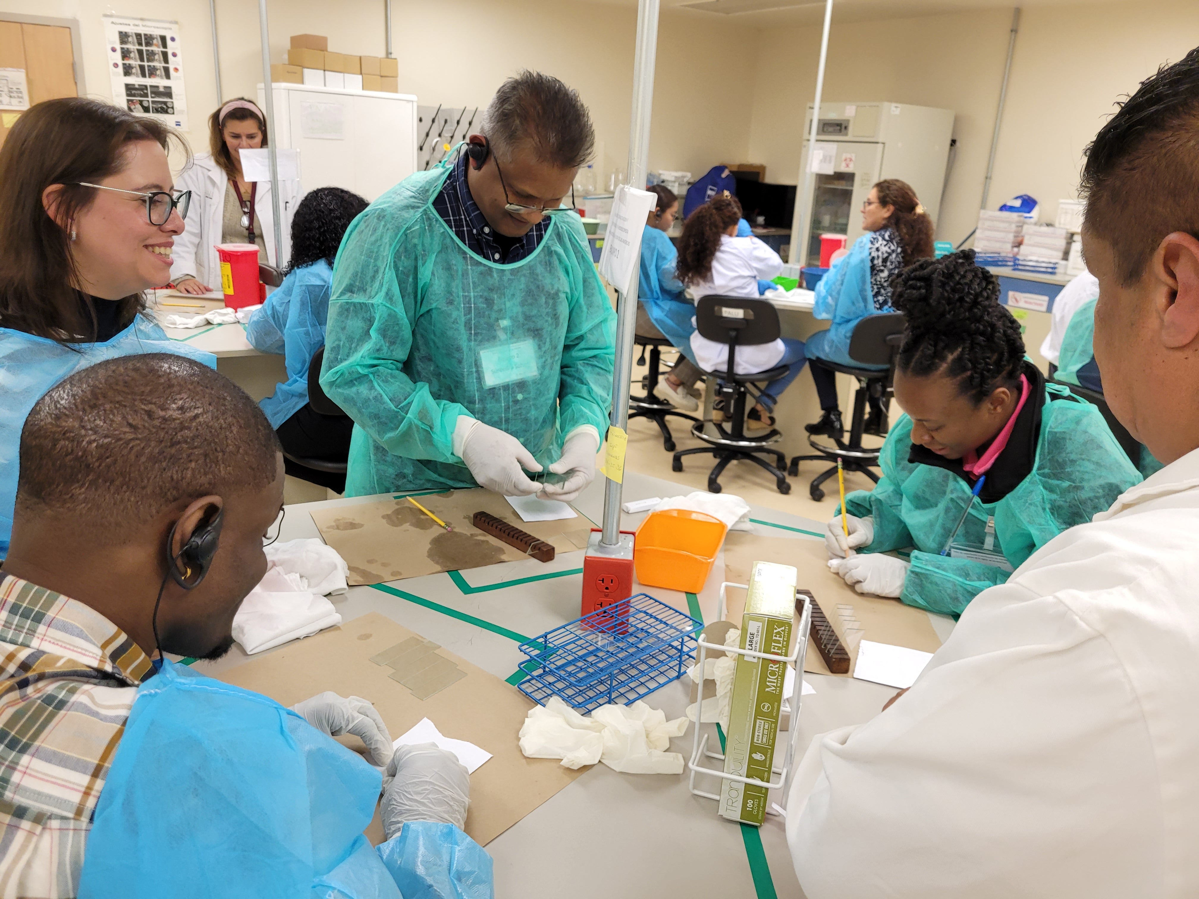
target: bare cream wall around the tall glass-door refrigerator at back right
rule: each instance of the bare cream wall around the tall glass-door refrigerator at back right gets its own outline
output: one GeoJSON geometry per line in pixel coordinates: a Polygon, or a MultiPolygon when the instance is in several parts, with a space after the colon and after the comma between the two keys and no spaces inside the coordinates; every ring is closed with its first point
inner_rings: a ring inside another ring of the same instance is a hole
{"type": "MultiPolygon", "coordinates": [[[[962,240],[978,218],[1011,10],[844,25],[833,16],[826,101],[956,111],[957,157],[936,236],[962,240]]],[[[1115,99],[1197,43],[1199,4],[1191,0],[1024,10],[988,205],[1029,193],[1052,221],[1058,200],[1076,195],[1083,147],[1115,99]]],[[[749,156],[766,163],[771,181],[796,181],[819,47],[819,28],[759,37],[749,156]]]]}

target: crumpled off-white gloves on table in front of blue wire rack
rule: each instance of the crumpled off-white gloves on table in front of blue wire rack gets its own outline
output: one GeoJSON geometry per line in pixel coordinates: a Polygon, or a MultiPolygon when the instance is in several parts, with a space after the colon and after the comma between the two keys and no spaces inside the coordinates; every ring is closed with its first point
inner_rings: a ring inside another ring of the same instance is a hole
{"type": "Polygon", "coordinates": [[[641,701],[601,706],[585,718],[552,696],[529,711],[520,752],[530,759],[561,759],[567,768],[602,761],[626,774],[681,774],[682,755],[665,749],[671,737],[686,732],[686,718],[668,722],[661,708],[641,701]]]}

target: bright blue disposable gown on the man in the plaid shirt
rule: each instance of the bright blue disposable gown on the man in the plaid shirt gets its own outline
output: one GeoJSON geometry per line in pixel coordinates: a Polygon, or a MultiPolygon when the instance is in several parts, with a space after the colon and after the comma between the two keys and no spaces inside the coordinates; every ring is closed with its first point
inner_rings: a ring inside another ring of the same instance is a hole
{"type": "Polygon", "coordinates": [[[380,785],[295,712],[168,662],[138,688],[79,895],[490,899],[492,858],[453,825],[370,846],[380,785]]]}

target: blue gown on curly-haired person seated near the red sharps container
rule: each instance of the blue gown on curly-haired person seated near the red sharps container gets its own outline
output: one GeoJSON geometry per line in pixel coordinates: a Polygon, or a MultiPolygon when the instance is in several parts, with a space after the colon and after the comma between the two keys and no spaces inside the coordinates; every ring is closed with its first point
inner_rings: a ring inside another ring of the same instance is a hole
{"type": "Polygon", "coordinates": [[[325,345],[333,270],[324,259],[288,273],[246,325],[246,339],[259,352],[282,354],[288,380],[259,405],[272,428],[308,402],[308,363],[325,345]]]}

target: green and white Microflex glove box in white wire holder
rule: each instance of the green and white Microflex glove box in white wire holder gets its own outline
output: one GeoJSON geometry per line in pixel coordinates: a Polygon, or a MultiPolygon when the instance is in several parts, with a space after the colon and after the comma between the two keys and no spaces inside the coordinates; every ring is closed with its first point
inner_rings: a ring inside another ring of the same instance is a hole
{"type": "MultiPolygon", "coordinates": [[[[787,656],[791,645],[797,572],[789,565],[754,562],[741,619],[742,650],[787,656]]],[[[737,656],[729,704],[729,730],[724,744],[724,773],[771,780],[778,718],[783,705],[787,663],[737,656]]],[[[766,817],[763,786],[724,780],[721,815],[733,821],[761,825],[766,817]]]]}

